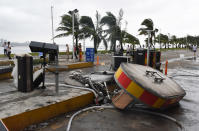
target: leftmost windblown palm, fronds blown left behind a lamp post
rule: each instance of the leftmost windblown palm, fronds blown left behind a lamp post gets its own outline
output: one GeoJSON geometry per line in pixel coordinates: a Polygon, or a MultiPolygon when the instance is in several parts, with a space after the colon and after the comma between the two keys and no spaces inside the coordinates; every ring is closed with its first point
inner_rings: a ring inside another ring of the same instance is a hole
{"type": "MultiPolygon", "coordinates": [[[[61,31],[62,33],[56,35],[55,38],[68,37],[70,35],[73,35],[71,14],[64,14],[63,16],[61,16],[60,26],[56,29],[56,31],[61,31]]],[[[79,18],[77,14],[74,14],[74,37],[75,37],[76,47],[78,47],[79,34],[80,34],[79,18]]]]}

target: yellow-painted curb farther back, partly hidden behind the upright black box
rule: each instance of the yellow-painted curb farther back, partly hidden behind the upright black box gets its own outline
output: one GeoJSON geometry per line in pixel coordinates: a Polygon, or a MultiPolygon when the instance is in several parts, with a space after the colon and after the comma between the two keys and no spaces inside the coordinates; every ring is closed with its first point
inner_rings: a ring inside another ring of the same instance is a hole
{"type": "MultiPolygon", "coordinates": [[[[73,63],[73,64],[66,64],[66,65],[62,65],[64,67],[62,68],[58,68],[58,71],[67,71],[67,70],[72,70],[72,69],[81,69],[81,68],[87,68],[87,67],[92,67],[94,64],[92,62],[78,62],[78,63],[73,63]]],[[[55,67],[50,67],[48,68],[48,71],[55,71],[55,67]]],[[[2,73],[0,74],[0,80],[4,80],[4,79],[11,79],[11,72],[7,72],[7,73],[2,73]]]]}

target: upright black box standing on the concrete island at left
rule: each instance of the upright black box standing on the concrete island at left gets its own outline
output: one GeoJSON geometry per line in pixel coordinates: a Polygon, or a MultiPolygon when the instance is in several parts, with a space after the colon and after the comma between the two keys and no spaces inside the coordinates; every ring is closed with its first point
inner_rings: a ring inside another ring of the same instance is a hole
{"type": "Polygon", "coordinates": [[[33,58],[29,54],[17,55],[18,91],[30,92],[33,90],[33,58]]]}

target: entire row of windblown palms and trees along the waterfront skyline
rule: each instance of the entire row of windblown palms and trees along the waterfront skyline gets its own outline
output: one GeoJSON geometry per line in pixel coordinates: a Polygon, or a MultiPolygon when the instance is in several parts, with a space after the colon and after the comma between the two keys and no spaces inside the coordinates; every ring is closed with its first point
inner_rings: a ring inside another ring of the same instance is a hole
{"type": "MultiPolygon", "coordinates": [[[[135,45],[140,45],[139,39],[134,35],[126,31],[126,28],[122,29],[123,21],[123,10],[120,9],[118,17],[116,17],[111,12],[106,12],[106,15],[101,17],[98,11],[96,11],[95,20],[90,16],[79,16],[74,14],[74,39],[76,47],[78,46],[78,41],[82,39],[90,38],[93,40],[93,46],[95,52],[101,42],[103,42],[105,49],[108,49],[108,42],[110,42],[110,50],[115,51],[116,42],[118,41],[123,50],[123,44],[132,44],[133,48],[135,45]]],[[[148,30],[150,30],[150,45],[155,48],[156,43],[159,43],[160,48],[184,48],[186,46],[192,46],[194,44],[199,45],[199,36],[187,36],[187,37],[176,37],[172,35],[170,38],[166,34],[158,33],[158,29],[154,28],[154,23],[151,19],[145,19],[141,23],[142,28],[138,30],[139,35],[148,36],[148,30]]],[[[61,31],[59,37],[67,37],[72,35],[72,14],[67,13],[61,16],[60,26],[56,31],[61,31]]],[[[148,37],[145,39],[146,45],[148,47],[148,37]]]]}

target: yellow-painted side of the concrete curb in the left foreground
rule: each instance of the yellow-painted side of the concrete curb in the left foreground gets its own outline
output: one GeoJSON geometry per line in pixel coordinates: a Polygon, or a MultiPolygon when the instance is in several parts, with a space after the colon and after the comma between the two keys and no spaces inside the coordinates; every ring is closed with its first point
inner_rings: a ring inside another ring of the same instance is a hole
{"type": "Polygon", "coordinates": [[[1,119],[9,131],[21,131],[25,127],[36,124],[63,113],[77,110],[93,102],[93,93],[64,100],[45,107],[1,119]]]}

